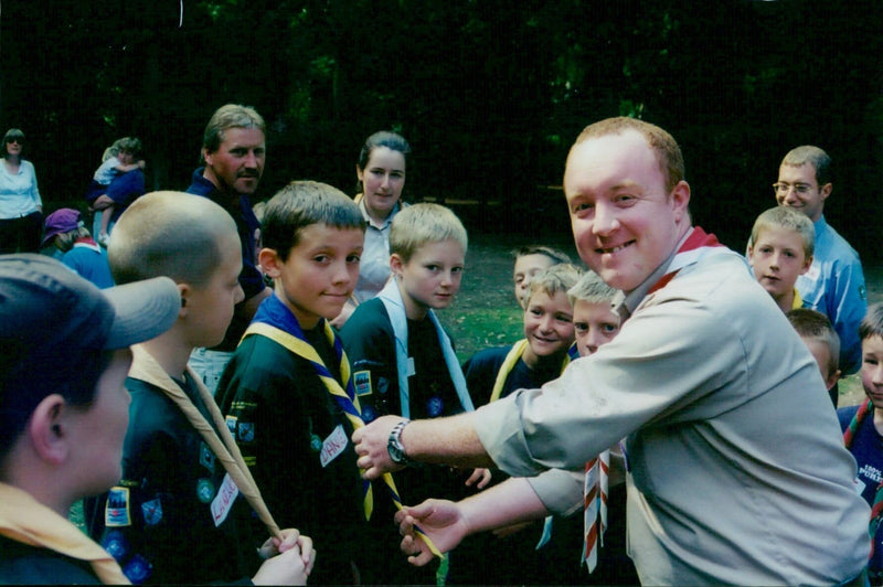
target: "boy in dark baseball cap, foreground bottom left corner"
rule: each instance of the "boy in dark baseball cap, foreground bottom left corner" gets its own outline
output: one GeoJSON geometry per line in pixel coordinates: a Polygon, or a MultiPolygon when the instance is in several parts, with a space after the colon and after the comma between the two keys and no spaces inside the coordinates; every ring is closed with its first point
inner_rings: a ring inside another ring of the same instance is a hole
{"type": "Polygon", "coordinates": [[[168,277],[99,290],[55,259],[0,256],[0,583],[127,583],[67,516],[119,479],[129,345],[180,305],[168,277]]]}

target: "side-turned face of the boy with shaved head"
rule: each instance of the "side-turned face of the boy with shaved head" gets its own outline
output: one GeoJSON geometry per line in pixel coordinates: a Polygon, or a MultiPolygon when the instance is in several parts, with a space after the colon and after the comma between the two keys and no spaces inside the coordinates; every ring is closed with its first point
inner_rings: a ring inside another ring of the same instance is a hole
{"type": "Polygon", "coordinates": [[[182,291],[188,342],[193,346],[214,346],[224,340],[233,319],[233,307],[245,298],[240,286],[242,247],[233,233],[220,235],[221,264],[208,284],[190,285],[182,291]]]}

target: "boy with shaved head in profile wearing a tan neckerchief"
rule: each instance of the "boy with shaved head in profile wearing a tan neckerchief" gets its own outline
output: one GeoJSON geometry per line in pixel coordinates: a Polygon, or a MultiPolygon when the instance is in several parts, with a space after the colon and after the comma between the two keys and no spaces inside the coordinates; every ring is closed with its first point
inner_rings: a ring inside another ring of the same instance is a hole
{"type": "Polygon", "coordinates": [[[120,216],[108,257],[118,284],[171,277],[181,307],[171,329],[132,348],[123,477],[93,510],[93,534],[132,583],[306,584],[309,538],[273,521],[211,393],[187,365],[194,346],[223,339],[242,300],[233,218],[204,198],[147,194],[120,216]],[[270,537],[248,532],[249,505],[270,537]]]}

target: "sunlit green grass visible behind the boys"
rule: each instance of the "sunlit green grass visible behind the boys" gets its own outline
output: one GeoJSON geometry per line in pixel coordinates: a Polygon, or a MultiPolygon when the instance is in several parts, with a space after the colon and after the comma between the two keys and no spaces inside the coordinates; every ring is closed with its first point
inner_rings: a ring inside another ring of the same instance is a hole
{"type": "MultiPolygon", "coordinates": [[[[570,232],[554,232],[557,236],[542,239],[470,232],[460,292],[451,308],[438,312],[454,338],[460,361],[481,349],[511,344],[523,335],[522,316],[512,292],[513,248],[541,243],[560,248],[579,263],[570,232]]],[[[883,265],[866,265],[864,271],[869,305],[883,301],[883,265]]],[[[840,407],[858,404],[863,398],[858,375],[840,381],[840,407]]]]}

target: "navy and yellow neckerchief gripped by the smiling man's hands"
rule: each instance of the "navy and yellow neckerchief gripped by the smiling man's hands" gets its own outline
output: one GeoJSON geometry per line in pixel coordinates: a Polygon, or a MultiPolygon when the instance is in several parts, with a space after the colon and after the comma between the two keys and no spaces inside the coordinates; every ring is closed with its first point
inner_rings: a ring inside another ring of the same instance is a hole
{"type": "MultiPolygon", "coordinates": [[[[325,334],[328,338],[328,342],[331,344],[332,348],[338,350],[339,343],[337,335],[334,334],[334,330],[331,328],[331,324],[328,323],[328,320],[323,320],[325,322],[325,334]]],[[[322,381],[328,389],[328,393],[331,397],[336,401],[338,407],[340,407],[343,413],[347,415],[347,418],[352,424],[353,430],[358,430],[359,428],[364,427],[364,421],[362,420],[362,412],[361,407],[359,406],[359,397],[355,395],[354,389],[351,391],[351,395],[343,389],[343,386],[338,382],[334,377],[331,376],[331,373],[326,367],[325,362],[322,361],[319,353],[316,352],[312,344],[307,342],[306,340],[299,339],[294,334],[290,334],[279,328],[274,327],[273,324],[268,324],[266,322],[252,322],[248,324],[248,328],[243,334],[243,340],[249,335],[260,335],[266,337],[267,339],[276,342],[277,344],[284,346],[285,349],[291,351],[296,355],[309,361],[312,363],[313,367],[316,367],[317,375],[322,381]]],[[[347,353],[343,352],[342,346],[340,348],[340,377],[343,382],[345,382],[347,387],[349,389],[352,388],[351,383],[351,373],[350,373],[350,361],[347,359],[347,353]]],[[[383,481],[386,483],[386,487],[390,490],[390,495],[395,504],[395,508],[401,510],[402,509],[402,498],[398,495],[398,490],[395,487],[395,481],[393,481],[392,473],[383,473],[383,481]]],[[[364,493],[364,511],[365,517],[371,517],[371,512],[374,509],[374,498],[373,492],[371,490],[371,483],[369,481],[364,481],[365,490],[364,493]]],[[[419,534],[421,538],[426,543],[426,546],[429,547],[429,551],[439,558],[445,558],[445,555],[433,544],[433,541],[429,540],[429,536],[425,535],[422,530],[416,529],[417,533],[419,534]]]]}

